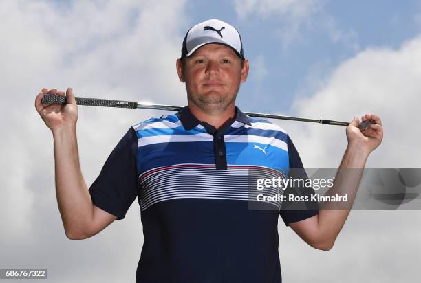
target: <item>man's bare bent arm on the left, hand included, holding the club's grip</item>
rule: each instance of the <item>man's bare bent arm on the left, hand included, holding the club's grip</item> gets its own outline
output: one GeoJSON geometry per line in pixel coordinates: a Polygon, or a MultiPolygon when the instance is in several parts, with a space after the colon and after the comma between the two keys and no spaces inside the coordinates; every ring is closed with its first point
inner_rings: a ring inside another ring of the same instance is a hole
{"type": "Polygon", "coordinates": [[[72,89],[67,89],[67,104],[41,103],[45,93],[56,89],[43,89],[35,99],[35,107],[54,137],[56,196],[65,234],[70,239],[89,238],[116,220],[116,216],[95,207],[83,179],[76,139],[77,106],[72,89]]]}

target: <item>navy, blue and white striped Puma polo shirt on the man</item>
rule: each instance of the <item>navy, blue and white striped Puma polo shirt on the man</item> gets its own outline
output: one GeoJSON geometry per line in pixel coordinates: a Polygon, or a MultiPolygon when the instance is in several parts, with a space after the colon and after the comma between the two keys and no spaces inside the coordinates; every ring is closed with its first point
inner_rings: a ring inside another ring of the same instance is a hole
{"type": "Polygon", "coordinates": [[[89,193],[117,219],[138,199],[144,243],[136,282],[281,282],[278,218],[288,225],[318,207],[250,209],[250,192],[259,177],[294,178],[290,168],[303,165],[279,126],[235,107],[216,129],[186,106],[129,128],[89,193]]]}

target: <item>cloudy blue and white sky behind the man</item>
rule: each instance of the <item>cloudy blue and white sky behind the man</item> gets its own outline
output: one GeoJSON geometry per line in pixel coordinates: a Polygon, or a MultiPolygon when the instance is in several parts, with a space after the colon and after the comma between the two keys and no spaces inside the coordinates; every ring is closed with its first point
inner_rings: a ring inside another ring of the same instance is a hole
{"type": "MultiPolygon", "coordinates": [[[[52,134],[34,109],[43,88],[186,104],[175,60],[189,27],[222,19],[250,60],[244,111],[350,121],[376,113],[385,138],[367,167],[420,168],[419,1],[0,0],[0,268],[47,268],[51,282],[133,282],[143,243],[131,206],[87,240],[68,240],[54,189],[52,134]]],[[[78,108],[88,185],[127,129],[162,111],[78,108]]],[[[275,121],[307,168],[336,168],[345,128],[275,121]]],[[[284,282],[418,282],[419,210],[352,211],[331,251],[279,225],[284,282]]]]}

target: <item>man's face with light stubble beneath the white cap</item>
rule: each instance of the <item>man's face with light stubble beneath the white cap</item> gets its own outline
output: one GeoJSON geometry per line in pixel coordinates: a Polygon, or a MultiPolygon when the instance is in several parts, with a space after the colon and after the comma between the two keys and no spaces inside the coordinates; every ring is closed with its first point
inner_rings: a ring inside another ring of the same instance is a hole
{"type": "Polygon", "coordinates": [[[233,49],[207,44],[186,58],[185,69],[177,60],[180,80],[186,83],[187,98],[206,113],[218,113],[235,104],[241,82],[248,74],[248,60],[241,68],[241,59],[233,49]]]}

